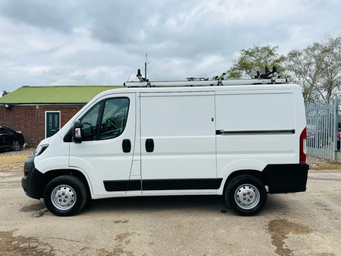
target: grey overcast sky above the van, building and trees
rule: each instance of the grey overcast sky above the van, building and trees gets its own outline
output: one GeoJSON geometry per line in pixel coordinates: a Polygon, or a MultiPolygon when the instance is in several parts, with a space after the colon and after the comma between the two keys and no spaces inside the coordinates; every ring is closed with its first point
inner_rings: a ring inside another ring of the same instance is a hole
{"type": "MultiPolygon", "coordinates": [[[[340,0],[0,0],[0,90],[212,77],[241,49],[341,35],[340,0]]],[[[0,96],[2,93],[0,93],[0,96]]]]}

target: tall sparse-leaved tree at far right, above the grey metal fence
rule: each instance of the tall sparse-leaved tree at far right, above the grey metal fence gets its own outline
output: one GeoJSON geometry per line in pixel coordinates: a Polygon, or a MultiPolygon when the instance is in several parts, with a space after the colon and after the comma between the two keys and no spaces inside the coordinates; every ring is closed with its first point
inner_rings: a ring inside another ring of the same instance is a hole
{"type": "Polygon", "coordinates": [[[286,68],[302,87],[304,102],[328,102],[341,88],[341,37],[326,35],[322,42],[292,50],[286,68]]]}

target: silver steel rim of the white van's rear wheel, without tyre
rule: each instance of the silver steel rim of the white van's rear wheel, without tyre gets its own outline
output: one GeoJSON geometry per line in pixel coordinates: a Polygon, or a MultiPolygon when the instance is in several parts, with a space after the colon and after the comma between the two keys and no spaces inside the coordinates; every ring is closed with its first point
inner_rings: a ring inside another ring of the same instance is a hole
{"type": "Polygon", "coordinates": [[[238,207],[249,210],[259,203],[259,190],[251,184],[243,184],[236,189],[235,202],[238,207]]]}

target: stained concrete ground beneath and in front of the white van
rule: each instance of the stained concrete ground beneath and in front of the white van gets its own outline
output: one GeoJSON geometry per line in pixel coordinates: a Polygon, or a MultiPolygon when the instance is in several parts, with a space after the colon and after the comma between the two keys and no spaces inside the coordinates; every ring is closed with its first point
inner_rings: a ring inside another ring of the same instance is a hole
{"type": "Polygon", "coordinates": [[[222,197],[96,200],[57,217],[0,172],[0,255],[341,255],[341,173],[309,171],[307,191],[269,195],[240,217],[222,197]]]}

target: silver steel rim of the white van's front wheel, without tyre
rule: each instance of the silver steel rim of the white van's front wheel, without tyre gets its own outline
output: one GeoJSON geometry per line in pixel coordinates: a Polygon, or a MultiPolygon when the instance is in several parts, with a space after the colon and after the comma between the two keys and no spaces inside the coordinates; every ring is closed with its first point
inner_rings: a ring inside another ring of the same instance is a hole
{"type": "Polygon", "coordinates": [[[76,203],[75,190],[68,185],[59,185],[51,193],[51,202],[59,210],[69,210],[76,203]]]}

